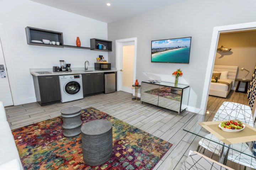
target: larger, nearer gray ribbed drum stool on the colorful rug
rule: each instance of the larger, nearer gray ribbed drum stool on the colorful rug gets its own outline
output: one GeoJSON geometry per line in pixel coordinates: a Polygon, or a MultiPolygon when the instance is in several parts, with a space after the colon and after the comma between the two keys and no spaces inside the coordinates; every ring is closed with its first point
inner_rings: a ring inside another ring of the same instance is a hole
{"type": "Polygon", "coordinates": [[[84,163],[101,165],[112,157],[112,123],[108,120],[92,120],[81,127],[84,163]]]}

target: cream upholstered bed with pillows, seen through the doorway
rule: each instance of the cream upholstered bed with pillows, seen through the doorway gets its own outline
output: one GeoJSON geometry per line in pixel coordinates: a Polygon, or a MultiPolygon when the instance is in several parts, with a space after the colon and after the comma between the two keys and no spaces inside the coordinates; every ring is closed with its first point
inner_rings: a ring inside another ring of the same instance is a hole
{"type": "Polygon", "coordinates": [[[234,87],[237,70],[238,70],[238,66],[214,65],[213,67],[214,73],[228,71],[228,74],[224,77],[220,75],[222,76],[220,77],[222,79],[218,80],[220,83],[213,83],[213,82],[210,83],[209,95],[226,98],[230,90],[234,87]]]}

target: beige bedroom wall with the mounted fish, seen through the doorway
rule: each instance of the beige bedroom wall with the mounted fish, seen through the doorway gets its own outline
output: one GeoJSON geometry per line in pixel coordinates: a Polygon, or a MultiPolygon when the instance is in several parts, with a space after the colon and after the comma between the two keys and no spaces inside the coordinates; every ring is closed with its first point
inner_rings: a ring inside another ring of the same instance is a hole
{"type": "MultiPolygon", "coordinates": [[[[246,79],[251,79],[256,64],[256,30],[236,33],[222,33],[219,36],[218,48],[224,46],[231,48],[230,52],[216,53],[215,65],[238,66],[236,78],[244,78],[248,73],[241,71],[245,68],[250,71],[246,79]]],[[[236,87],[237,82],[235,83],[236,87]]],[[[244,88],[241,83],[240,88],[244,88]]]]}

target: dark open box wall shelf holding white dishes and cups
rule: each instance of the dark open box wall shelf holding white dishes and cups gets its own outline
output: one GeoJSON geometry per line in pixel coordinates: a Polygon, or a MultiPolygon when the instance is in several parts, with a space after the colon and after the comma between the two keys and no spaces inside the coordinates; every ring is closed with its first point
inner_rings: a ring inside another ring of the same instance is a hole
{"type": "Polygon", "coordinates": [[[50,47],[61,47],[63,48],[63,33],[50,31],[40,28],[26,27],[26,36],[27,36],[27,44],[29,45],[41,45],[41,46],[50,46],[50,47]],[[60,45],[51,45],[44,43],[31,42],[31,40],[42,41],[42,39],[60,42],[60,45]]]}

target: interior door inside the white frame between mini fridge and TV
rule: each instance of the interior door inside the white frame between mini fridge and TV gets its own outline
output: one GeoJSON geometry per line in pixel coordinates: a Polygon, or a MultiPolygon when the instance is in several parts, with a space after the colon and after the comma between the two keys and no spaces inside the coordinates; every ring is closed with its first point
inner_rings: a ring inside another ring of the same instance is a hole
{"type": "Polygon", "coordinates": [[[132,85],[134,84],[134,41],[122,42],[120,54],[120,90],[133,93],[132,85]]]}

